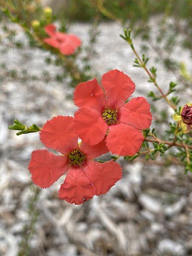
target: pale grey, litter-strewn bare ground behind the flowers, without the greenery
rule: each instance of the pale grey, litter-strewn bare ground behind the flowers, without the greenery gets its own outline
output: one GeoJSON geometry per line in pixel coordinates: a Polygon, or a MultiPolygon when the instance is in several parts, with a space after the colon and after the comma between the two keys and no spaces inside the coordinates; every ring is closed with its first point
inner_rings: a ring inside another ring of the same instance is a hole
{"type": "MultiPolygon", "coordinates": [[[[0,63],[6,63],[8,70],[18,71],[18,77],[11,78],[0,69],[4,76],[0,84],[0,255],[6,256],[17,255],[23,225],[29,223],[34,211],[29,208],[29,201],[35,185],[27,166],[32,150],[43,148],[38,134],[18,137],[7,127],[15,118],[27,125],[35,122],[41,126],[52,116],[73,115],[76,110],[68,97],[73,90],[67,87],[67,81],[53,79],[60,68],[44,62],[49,53],[29,48],[22,30],[16,29],[25,47],[9,47],[5,51],[5,46],[0,46],[0,63]],[[22,75],[23,69],[27,75],[22,75]],[[51,77],[48,82],[45,72],[51,77]]],[[[84,44],[88,30],[87,24],[70,28],[84,44]]],[[[146,96],[152,85],[147,83],[143,70],[132,67],[134,55],[119,38],[120,26],[104,23],[99,30],[97,54],[91,59],[96,72],[101,76],[109,69],[123,70],[136,83],[134,96],[146,96]]],[[[137,41],[138,49],[140,44],[137,41]]],[[[173,58],[189,66],[188,55],[176,47],[173,58]]],[[[167,81],[175,76],[156,63],[155,56],[150,49],[149,66],[156,64],[157,81],[167,86],[167,81]]],[[[159,104],[161,108],[163,102],[159,104]]],[[[172,111],[168,113],[171,116],[172,111]]],[[[128,164],[122,159],[119,163],[123,166],[122,180],[108,194],[83,205],[58,199],[57,191],[64,177],[51,188],[40,190],[30,256],[192,255],[192,175],[184,175],[179,166],[149,166],[141,161],[128,164]]]]}

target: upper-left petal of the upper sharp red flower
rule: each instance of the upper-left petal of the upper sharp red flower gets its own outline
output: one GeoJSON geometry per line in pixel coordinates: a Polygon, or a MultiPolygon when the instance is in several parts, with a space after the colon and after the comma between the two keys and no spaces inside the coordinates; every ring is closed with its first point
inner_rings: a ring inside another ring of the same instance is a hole
{"type": "Polygon", "coordinates": [[[105,94],[96,79],[78,84],[73,99],[79,108],[90,107],[102,111],[106,105],[105,94]]]}

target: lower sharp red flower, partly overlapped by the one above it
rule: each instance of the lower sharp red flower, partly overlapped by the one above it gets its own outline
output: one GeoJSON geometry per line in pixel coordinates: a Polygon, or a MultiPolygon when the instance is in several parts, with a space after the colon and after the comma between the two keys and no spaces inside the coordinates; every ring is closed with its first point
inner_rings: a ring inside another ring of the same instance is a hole
{"type": "Polygon", "coordinates": [[[82,204],[108,192],[122,176],[122,168],[113,160],[106,163],[94,162],[93,158],[108,152],[105,140],[98,145],[78,144],[71,116],[56,116],[43,126],[40,139],[47,148],[59,151],[52,154],[47,149],[35,150],[29,163],[33,182],[48,188],[67,172],[58,195],[61,199],[82,204]]]}

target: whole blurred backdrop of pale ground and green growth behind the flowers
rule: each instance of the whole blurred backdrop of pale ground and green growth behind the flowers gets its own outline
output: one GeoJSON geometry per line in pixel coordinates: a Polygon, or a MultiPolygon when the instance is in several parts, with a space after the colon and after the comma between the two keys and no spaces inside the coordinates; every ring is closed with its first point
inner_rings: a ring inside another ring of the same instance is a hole
{"type": "MultiPolygon", "coordinates": [[[[84,80],[119,69],[135,82],[134,96],[147,97],[153,85],[119,37],[130,28],[137,51],[157,67],[160,87],[177,82],[180,105],[192,101],[191,0],[0,0],[6,5],[29,22],[52,7],[61,31],[81,38],[76,64],[84,80]]],[[[8,126],[15,118],[41,127],[52,116],[73,115],[77,81],[3,12],[0,56],[0,255],[192,255],[192,174],[178,161],[119,158],[122,180],[80,206],[58,199],[64,177],[49,189],[35,187],[27,166],[31,152],[43,148],[38,133],[17,136],[8,126]]],[[[163,100],[147,99],[152,127],[163,137],[173,112],[163,100]]]]}

